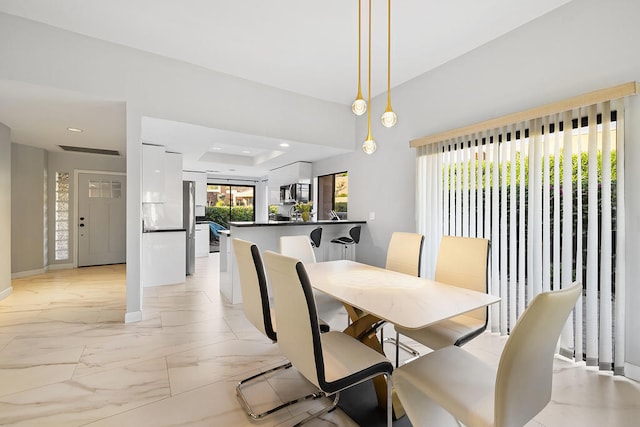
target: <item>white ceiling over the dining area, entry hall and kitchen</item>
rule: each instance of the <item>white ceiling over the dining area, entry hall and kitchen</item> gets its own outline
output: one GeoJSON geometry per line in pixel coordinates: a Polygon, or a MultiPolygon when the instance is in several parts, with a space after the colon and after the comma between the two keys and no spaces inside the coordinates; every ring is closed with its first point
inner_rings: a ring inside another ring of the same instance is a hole
{"type": "MultiPolygon", "coordinates": [[[[568,1],[394,1],[391,85],[402,84],[568,1]]],[[[363,47],[367,4],[362,2],[363,47]]],[[[349,105],[355,96],[355,0],[0,0],[0,12],[318,99],[349,105]]],[[[372,26],[375,96],[386,90],[386,2],[373,1],[372,26]]],[[[363,71],[365,54],[363,49],[363,71]]],[[[0,82],[0,122],[12,128],[14,142],[22,144],[56,150],[61,140],[70,139],[64,142],[75,145],[76,139],[85,146],[124,153],[123,111],[122,104],[111,101],[0,82]],[[60,131],[68,126],[83,127],[85,132],[71,136],[60,131]],[[117,148],[103,144],[113,141],[112,132],[117,134],[117,148]]],[[[255,153],[275,155],[281,141],[151,119],[143,128],[143,139],[156,143],[161,131],[189,135],[181,139],[180,150],[187,169],[206,165],[205,169],[230,175],[253,170],[251,175],[256,176],[263,167],[276,165],[278,158],[286,164],[290,158],[313,161],[337,154],[335,149],[288,141],[288,151],[265,162],[255,153]],[[213,154],[223,162],[196,162],[209,152],[212,141],[222,148],[213,154]],[[238,152],[237,147],[243,149],[238,152]],[[253,154],[242,153],[245,150],[253,154]],[[234,165],[246,169],[231,173],[228,169],[239,169],[234,165]]]]}

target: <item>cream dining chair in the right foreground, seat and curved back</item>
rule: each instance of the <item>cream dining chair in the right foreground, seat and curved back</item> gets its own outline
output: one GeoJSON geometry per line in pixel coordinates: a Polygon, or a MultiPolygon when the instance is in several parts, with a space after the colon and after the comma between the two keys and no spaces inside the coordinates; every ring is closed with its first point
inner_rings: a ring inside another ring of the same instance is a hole
{"type": "Polygon", "coordinates": [[[582,285],[537,295],[522,313],[497,371],[458,346],[396,369],[394,386],[414,426],[522,427],[551,400],[558,337],[582,285]]]}

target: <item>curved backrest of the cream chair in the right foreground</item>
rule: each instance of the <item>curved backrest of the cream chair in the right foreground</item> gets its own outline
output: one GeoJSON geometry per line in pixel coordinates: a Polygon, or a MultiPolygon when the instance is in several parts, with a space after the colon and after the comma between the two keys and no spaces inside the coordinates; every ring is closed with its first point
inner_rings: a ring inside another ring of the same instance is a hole
{"type": "Polygon", "coordinates": [[[496,375],[495,426],[525,425],[551,400],[553,354],[582,284],[537,295],[505,344],[496,375]]]}

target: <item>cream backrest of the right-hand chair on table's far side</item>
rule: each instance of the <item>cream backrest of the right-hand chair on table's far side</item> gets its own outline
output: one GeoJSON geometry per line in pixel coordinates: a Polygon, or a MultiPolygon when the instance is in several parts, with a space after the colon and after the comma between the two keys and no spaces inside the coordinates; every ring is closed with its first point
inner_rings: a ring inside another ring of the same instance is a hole
{"type": "MultiPolygon", "coordinates": [[[[489,240],[442,236],[434,280],[478,292],[487,292],[488,260],[489,240]]],[[[481,308],[466,315],[486,321],[487,309],[481,308]]]]}

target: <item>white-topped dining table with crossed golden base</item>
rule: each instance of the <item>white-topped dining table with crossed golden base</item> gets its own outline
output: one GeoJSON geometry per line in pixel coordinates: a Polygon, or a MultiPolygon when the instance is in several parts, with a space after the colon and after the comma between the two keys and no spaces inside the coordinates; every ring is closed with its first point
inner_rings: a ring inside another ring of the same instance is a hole
{"type": "MultiPolygon", "coordinates": [[[[500,301],[488,293],[349,260],[305,264],[305,269],[315,289],[344,304],[350,318],[344,332],[382,354],[376,331],[385,322],[421,329],[500,301]]],[[[374,387],[385,408],[384,378],[374,378],[374,387]]],[[[404,415],[395,393],[393,408],[394,418],[404,415]]]]}

